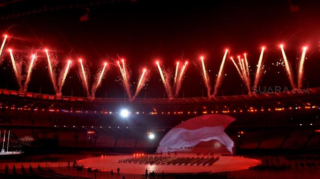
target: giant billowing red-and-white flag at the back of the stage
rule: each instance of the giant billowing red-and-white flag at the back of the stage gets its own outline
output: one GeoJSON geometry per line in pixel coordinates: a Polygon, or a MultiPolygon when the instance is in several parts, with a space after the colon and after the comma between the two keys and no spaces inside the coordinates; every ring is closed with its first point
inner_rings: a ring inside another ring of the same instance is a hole
{"type": "Polygon", "coordinates": [[[222,114],[194,117],[170,130],[160,141],[158,149],[169,152],[166,148],[194,147],[200,142],[215,139],[232,153],[234,142],[224,133],[224,129],[235,120],[234,117],[222,114]]]}

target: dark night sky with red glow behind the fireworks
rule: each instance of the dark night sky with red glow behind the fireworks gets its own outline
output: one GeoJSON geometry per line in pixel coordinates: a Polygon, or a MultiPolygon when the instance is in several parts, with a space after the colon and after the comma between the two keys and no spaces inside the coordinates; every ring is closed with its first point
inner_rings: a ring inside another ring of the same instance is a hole
{"type": "MultiPolygon", "coordinates": [[[[91,1],[97,2],[97,1],[91,1]]],[[[320,86],[320,3],[316,0],[293,1],[298,12],[290,8],[287,0],[215,0],[205,1],[115,1],[90,5],[90,1],[32,1],[23,0],[0,6],[0,33],[11,36],[7,47],[27,60],[30,51],[48,47],[58,57],[56,69],[70,55],[74,60],[63,95],[85,96],[77,76],[78,58],[90,67],[93,75],[104,61],[126,59],[132,70],[132,92],[139,78],[139,70],[147,67],[151,77],[146,89],[138,97],[163,97],[165,90],[155,65],[160,59],[163,66],[175,68],[177,60],[188,60],[190,65],[179,97],[206,95],[200,72],[199,56],[205,63],[214,86],[216,74],[225,48],[230,55],[246,52],[251,66],[251,81],[256,70],[261,46],[266,46],[264,65],[266,74],[260,86],[290,87],[283,66],[279,44],[285,45],[287,57],[293,67],[296,81],[297,58],[301,48],[308,46],[305,61],[304,88],[320,86]],[[152,3],[151,3],[152,2],[152,3]],[[87,5],[83,5],[87,4],[87,5]],[[56,7],[61,7],[58,10],[56,7]],[[53,10],[50,10],[50,8],[53,10]],[[66,8],[62,8],[66,7],[66,8]],[[88,20],[80,17],[89,9],[88,20]],[[22,15],[24,12],[42,9],[22,15]],[[8,15],[10,15],[8,17],[8,15]],[[14,15],[15,17],[12,17],[14,15]],[[19,16],[18,16],[19,15],[19,16]]],[[[2,42],[2,39],[0,40],[2,42]]],[[[0,88],[18,90],[9,54],[0,65],[0,88]]],[[[57,71],[59,73],[59,71],[57,71]]],[[[235,67],[226,61],[224,79],[218,95],[246,93],[235,67]]],[[[119,82],[119,68],[111,65],[97,97],[122,98],[125,92],[119,82]]],[[[47,69],[47,59],[42,51],[32,72],[28,91],[54,94],[47,69]]]]}

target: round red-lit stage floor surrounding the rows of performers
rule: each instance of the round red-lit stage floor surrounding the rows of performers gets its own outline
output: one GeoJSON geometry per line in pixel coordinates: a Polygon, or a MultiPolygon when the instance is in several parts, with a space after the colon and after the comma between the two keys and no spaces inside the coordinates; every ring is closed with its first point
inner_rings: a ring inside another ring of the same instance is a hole
{"type": "MultiPolygon", "coordinates": [[[[159,155],[157,155],[159,156],[159,155]]],[[[163,154],[163,157],[168,156],[168,154],[163,154]]],[[[171,157],[174,157],[171,154],[171,157]]],[[[77,161],[78,165],[84,165],[85,167],[98,168],[99,170],[114,172],[117,168],[120,168],[120,172],[124,174],[144,174],[146,169],[148,172],[225,172],[225,171],[237,171],[247,169],[251,166],[256,166],[261,164],[261,161],[246,157],[231,157],[231,156],[219,156],[219,160],[211,166],[191,166],[191,165],[167,165],[167,164],[139,164],[139,163],[119,163],[120,159],[131,158],[133,155],[123,155],[123,156],[108,156],[108,157],[91,157],[85,158],[77,161]]],[[[212,157],[212,156],[197,156],[196,154],[177,154],[176,157],[212,157]]],[[[214,155],[218,157],[218,155],[214,155]]]]}

